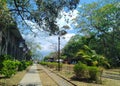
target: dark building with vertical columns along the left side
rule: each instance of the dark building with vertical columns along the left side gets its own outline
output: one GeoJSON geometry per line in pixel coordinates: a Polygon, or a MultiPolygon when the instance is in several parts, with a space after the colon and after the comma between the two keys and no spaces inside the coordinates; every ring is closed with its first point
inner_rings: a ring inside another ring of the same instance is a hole
{"type": "MultiPolygon", "coordinates": [[[[16,26],[7,29],[0,28],[0,55],[6,54],[17,60],[26,60],[27,51],[25,40],[16,26]],[[20,46],[21,43],[23,46],[20,46]]],[[[30,60],[30,58],[27,60],[30,60]]]]}

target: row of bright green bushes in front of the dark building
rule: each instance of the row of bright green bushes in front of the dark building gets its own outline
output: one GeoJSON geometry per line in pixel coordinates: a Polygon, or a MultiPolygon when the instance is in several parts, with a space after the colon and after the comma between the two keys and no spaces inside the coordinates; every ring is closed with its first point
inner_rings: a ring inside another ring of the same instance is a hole
{"type": "Polygon", "coordinates": [[[0,74],[5,78],[10,78],[17,71],[25,70],[29,65],[32,64],[32,61],[13,60],[9,55],[2,55],[0,57],[2,58],[0,61],[0,74]]]}

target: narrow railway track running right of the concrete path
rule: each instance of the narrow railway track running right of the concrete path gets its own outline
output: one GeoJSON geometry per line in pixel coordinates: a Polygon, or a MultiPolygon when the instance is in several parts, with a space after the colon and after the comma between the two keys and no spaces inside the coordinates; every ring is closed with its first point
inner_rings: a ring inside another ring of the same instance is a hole
{"type": "Polygon", "coordinates": [[[42,70],[44,70],[46,72],[46,74],[48,74],[48,76],[50,78],[52,78],[52,80],[54,80],[56,82],[56,84],[58,86],[77,86],[76,84],[72,83],[71,81],[67,80],[66,78],[62,77],[61,75],[58,75],[58,74],[44,68],[41,65],[39,65],[39,66],[42,70]]]}

